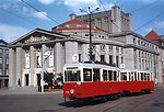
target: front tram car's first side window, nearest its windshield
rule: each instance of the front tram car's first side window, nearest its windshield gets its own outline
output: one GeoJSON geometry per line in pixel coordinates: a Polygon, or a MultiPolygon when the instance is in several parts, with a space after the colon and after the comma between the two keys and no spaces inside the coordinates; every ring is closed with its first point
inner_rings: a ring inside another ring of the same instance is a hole
{"type": "Polygon", "coordinates": [[[92,69],[83,69],[84,81],[92,81],[92,69]]]}

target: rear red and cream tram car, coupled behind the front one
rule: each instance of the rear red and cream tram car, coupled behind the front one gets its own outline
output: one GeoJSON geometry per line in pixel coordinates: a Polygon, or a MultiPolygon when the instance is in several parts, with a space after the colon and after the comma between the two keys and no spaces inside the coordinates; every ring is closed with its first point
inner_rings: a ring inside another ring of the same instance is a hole
{"type": "Polygon", "coordinates": [[[153,76],[149,70],[120,69],[120,82],[124,93],[154,91],[153,76]]]}

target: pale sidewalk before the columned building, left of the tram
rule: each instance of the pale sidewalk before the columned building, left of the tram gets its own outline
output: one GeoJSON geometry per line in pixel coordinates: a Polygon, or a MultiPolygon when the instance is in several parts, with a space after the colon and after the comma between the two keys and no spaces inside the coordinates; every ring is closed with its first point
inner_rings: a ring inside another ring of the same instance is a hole
{"type": "Polygon", "coordinates": [[[0,96],[8,96],[8,94],[45,94],[45,93],[62,93],[62,89],[60,90],[52,90],[51,92],[45,91],[45,92],[38,92],[38,91],[32,91],[28,89],[9,89],[9,88],[2,88],[0,89],[0,96]]]}

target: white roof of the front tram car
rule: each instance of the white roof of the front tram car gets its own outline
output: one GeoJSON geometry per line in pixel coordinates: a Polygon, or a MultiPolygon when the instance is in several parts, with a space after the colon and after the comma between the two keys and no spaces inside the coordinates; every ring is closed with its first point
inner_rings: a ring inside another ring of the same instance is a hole
{"type": "Polygon", "coordinates": [[[103,64],[92,64],[92,63],[72,63],[72,64],[66,64],[65,67],[86,67],[86,68],[103,68],[103,69],[116,69],[119,70],[117,67],[103,65],[103,64]]]}

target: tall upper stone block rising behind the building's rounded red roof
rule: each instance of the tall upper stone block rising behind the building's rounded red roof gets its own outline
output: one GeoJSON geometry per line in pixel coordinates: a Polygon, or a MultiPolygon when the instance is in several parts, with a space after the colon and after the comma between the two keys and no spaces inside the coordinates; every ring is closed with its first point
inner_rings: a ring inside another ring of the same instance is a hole
{"type": "MultiPolygon", "coordinates": [[[[74,15],[75,19],[89,22],[89,14],[74,15]]],[[[120,10],[118,5],[112,7],[112,10],[95,12],[91,14],[92,25],[97,26],[108,33],[118,33],[130,31],[131,15],[120,10]]]]}

